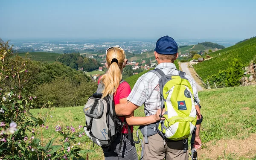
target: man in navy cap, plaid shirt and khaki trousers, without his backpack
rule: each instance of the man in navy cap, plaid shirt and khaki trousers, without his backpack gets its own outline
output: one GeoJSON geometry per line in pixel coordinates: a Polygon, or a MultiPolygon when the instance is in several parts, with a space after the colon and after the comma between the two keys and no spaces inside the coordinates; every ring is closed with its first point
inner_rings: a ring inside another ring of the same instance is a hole
{"type": "MultiPolygon", "coordinates": [[[[159,68],[165,74],[178,75],[178,70],[173,62],[178,57],[177,43],[169,36],[161,37],[154,49],[154,55],[158,62],[156,68],[159,68]]],[[[188,75],[185,76],[192,86],[194,98],[199,102],[198,92],[195,81],[188,75]]],[[[139,106],[144,104],[146,116],[154,115],[161,106],[159,78],[156,74],[148,72],[142,75],[134,85],[128,102],[122,105],[116,105],[116,113],[120,116],[128,116],[139,106]]],[[[200,108],[195,103],[198,119],[201,118],[200,108]]],[[[158,119],[160,120],[160,119],[158,119]]],[[[199,137],[200,125],[196,125],[195,149],[201,147],[199,137]]],[[[167,142],[157,132],[148,135],[148,139],[143,137],[144,155],[143,160],[188,160],[187,143],[183,140],[167,142]],[[145,142],[146,141],[146,142],[145,142]],[[186,148],[186,149],[185,149],[186,148]]]]}

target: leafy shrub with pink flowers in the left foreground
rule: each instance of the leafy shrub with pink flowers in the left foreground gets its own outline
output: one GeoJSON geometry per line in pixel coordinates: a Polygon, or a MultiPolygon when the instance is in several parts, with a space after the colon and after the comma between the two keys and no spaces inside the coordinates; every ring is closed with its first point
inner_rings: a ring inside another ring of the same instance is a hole
{"type": "MultiPolygon", "coordinates": [[[[54,139],[42,143],[42,130],[48,129],[44,126],[48,114],[35,118],[29,112],[37,97],[29,95],[24,87],[29,79],[26,59],[14,56],[8,41],[5,43],[0,39],[0,60],[0,159],[83,159],[79,154],[88,150],[82,151],[76,143],[83,133],[76,132],[75,128],[73,131],[60,130],[61,145],[53,145],[54,139]]],[[[43,107],[50,105],[52,103],[48,101],[43,107]]]]}

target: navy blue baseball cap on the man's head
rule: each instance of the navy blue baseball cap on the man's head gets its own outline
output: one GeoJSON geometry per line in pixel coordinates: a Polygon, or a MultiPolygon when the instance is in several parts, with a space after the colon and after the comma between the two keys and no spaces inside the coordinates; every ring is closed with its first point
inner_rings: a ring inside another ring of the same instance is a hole
{"type": "Polygon", "coordinates": [[[173,55],[178,52],[178,45],[172,37],[166,35],[157,40],[154,51],[163,55],[173,55]]]}

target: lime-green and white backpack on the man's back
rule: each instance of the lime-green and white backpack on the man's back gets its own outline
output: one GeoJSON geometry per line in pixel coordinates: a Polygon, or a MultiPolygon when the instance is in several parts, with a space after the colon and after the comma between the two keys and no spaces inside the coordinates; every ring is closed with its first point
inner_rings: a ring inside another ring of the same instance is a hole
{"type": "MultiPolygon", "coordinates": [[[[183,140],[192,135],[196,119],[196,100],[186,73],[179,71],[178,75],[165,75],[162,70],[154,69],[159,79],[161,109],[165,120],[158,124],[158,133],[167,140],[183,140]]],[[[199,104],[198,104],[199,105],[199,104]]],[[[200,106],[200,105],[199,105],[200,106]]]]}

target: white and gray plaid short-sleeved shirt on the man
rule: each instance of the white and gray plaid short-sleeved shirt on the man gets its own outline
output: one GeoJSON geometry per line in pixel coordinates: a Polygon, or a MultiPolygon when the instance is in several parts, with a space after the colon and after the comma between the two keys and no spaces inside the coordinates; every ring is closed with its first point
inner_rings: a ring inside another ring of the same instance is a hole
{"type": "MultiPolygon", "coordinates": [[[[163,73],[178,75],[178,70],[173,63],[160,63],[156,68],[159,68],[163,73]]],[[[199,103],[198,92],[195,81],[186,74],[186,79],[192,86],[195,99],[199,103]]],[[[144,104],[144,112],[146,116],[154,115],[159,108],[160,102],[160,88],[158,84],[159,78],[154,73],[145,73],[136,81],[134,88],[127,97],[127,100],[134,105],[141,106],[144,104]]],[[[196,103],[195,103],[196,105],[196,103]]]]}

